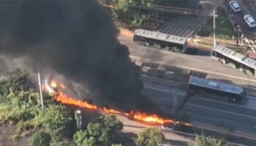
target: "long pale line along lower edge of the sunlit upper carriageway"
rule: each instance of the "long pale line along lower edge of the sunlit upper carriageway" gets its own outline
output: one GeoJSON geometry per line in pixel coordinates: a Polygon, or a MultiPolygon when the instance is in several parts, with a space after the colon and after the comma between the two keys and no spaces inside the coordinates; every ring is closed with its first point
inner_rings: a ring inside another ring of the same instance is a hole
{"type": "MultiPolygon", "coordinates": [[[[132,55],[130,55],[129,57],[130,58],[142,59],[142,60],[146,60],[146,61],[153,61],[153,60],[148,59],[148,58],[139,58],[139,57],[132,56],[132,55]]],[[[224,77],[231,77],[231,78],[235,78],[235,79],[239,79],[239,80],[248,81],[248,78],[244,78],[244,77],[237,77],[237,76],[233,76],[233,75],[222,74],[222,73],[219,73],[219,72],[211,72],[211,71],[206,71],[206,70],[203,70],[203,69],[195,69],[195,68],[188,67],[188,66],[181,66],[181,65],[176,65],[176,64],[166,64],[165,62],[162,62],[162,61],[154,61],[154,62],[157,62],[159,64],[164,64],[164,65],[167,65],[167,66],[176,66],[176,67],[181,67],[181,68],[184,68],[184,69],[190,69],[190,70],[194,70],[194,71],[198,71],[198,72],[206,72],[206,73],[209,73],[209,74],[217,74],[217,75],[221,75],[221,76],[224,76],[224,77]]],[[[256,82],[256,80],[251,80],[251,79],[249,79],[249,81],[256,82]]]]}

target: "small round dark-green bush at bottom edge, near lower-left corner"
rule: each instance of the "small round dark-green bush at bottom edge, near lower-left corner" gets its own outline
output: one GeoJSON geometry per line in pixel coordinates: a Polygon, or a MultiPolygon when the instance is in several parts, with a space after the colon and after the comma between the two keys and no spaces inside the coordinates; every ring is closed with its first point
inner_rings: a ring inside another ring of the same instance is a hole
{"type": "Polygon", "coordinates": [[[29,139],[30,146],[50,146],[50,134],[45,133],[44,131],[37,131],[29,139]]]}

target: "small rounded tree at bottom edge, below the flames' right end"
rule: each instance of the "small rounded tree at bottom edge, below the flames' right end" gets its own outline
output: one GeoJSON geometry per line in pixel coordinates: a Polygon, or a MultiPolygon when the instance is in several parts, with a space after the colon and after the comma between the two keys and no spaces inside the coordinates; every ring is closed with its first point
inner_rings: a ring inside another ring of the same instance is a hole
{"type": "Polygon", "coordinates": [[[158,146],[165,143],[165,136],[157,128],[146,128],[134,140],[137,146],[158,146]]]}

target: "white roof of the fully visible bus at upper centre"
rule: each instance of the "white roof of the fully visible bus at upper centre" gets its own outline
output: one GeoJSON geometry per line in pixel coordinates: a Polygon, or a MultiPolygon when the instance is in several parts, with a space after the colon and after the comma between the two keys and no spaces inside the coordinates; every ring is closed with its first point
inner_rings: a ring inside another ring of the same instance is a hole
{"type": "Polygon", "coordinates": [[[145,29],[135,29],[135,35],[151,39],[159,39],[166,42],[174,42],[182,45],[184,45],[187,42],[187,37],[178,37],[170,34],[163,34],[158,31],[148,31],[145,29]]]}

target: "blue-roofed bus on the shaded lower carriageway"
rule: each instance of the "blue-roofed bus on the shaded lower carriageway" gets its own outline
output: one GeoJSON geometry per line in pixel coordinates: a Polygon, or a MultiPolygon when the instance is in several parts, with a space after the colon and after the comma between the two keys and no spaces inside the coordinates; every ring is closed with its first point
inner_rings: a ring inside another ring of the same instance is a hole
{"type": "Polygon", "coordinates": [[[200,96],[205,96],[206,94],[208,96],[219,96],[228,99],[228,101],[241,101],[246,96],[244,88],[193,76],[189,79],[188,91],[200,96]]]}

